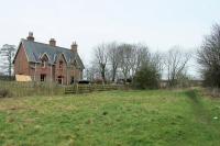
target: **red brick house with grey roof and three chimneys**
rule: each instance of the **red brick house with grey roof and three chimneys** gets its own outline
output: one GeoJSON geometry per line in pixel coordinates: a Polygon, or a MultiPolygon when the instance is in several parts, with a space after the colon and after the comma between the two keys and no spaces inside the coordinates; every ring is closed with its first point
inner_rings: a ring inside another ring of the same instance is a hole
{"type": "Polygon", "coordinates": [[[34,41],[33,33],[21,40],[14,60],[14,75],[30,76],[33,81],[70,85],[81,80],[84,64],[77,53],[77,44],[70,49],[34,41]]]}

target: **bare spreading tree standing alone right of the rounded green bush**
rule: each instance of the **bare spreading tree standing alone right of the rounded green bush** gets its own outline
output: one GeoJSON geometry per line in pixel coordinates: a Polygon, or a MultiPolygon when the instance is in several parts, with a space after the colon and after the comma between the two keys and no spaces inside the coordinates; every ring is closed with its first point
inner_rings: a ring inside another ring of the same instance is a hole
{"type": "Polygon", "coordinates": [[[179,47],[169,49],[165,58],[169,87],[177,85],[178,77],[184,74],[189,58],[190,54],[182,52],[179,47]]]}

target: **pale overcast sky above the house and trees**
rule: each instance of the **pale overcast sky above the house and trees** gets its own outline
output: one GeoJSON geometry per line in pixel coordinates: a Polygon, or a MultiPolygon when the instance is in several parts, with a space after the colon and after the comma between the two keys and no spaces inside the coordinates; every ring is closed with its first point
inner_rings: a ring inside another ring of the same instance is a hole
{"type": "Polygon", "coordinates": [[[174,45],[196,49],[213,23],[220,0],[1,0],[0,45],[18,45],[29,31],[78,52],[88,64],[102,42],[145,43],[151,50],[174,45]]]}

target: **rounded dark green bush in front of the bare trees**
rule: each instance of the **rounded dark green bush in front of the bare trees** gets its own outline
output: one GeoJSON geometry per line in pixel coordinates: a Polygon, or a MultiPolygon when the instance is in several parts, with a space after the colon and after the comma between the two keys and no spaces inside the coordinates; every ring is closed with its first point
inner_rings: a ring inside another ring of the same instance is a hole
{"type": "Polygon", "coordinates": [[[133,86],[138,89],[156,89],[158,88],[160,74],[152,65],[142,66],[134,76],[133,86]]]}

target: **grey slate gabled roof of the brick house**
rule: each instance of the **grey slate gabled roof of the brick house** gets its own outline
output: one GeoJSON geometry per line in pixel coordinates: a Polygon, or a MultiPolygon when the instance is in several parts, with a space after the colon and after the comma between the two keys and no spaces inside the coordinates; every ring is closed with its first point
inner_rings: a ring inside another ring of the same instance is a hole
{"type": "Polygon", "coordinates": [[[74,53],[68,48],[51,46],[48,44],[43,44],[28,40],[21,40],[20,45],[23,45],[28,60],[30,63],[41,63],[42,56],[46,54],[48,56],[48,64],[53,65],[55,64],[57,57],[63,54],[67,61],[67,65],[76,60],[79,65],[79,68],[85,68],[78,53],[74,53]]]}

